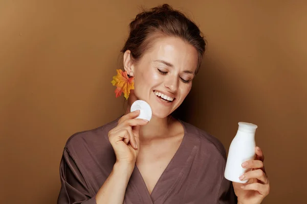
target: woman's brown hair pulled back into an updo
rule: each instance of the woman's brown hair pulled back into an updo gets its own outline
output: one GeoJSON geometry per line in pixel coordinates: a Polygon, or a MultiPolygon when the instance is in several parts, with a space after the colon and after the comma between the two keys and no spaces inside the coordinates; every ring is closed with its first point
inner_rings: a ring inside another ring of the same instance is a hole
{"type": "Polygon", "coordinates": [[[182,12],[172,9],[168,4],[158,6],[139,13],[130,22],[129,37],[121,52],[130,50],[131,57],[138,60],[150,48],[153,39],[161,36],[175,36],[188,42],[198,51],[198,72],[206,41],[198,26],[188,19],[182,12]]]}

